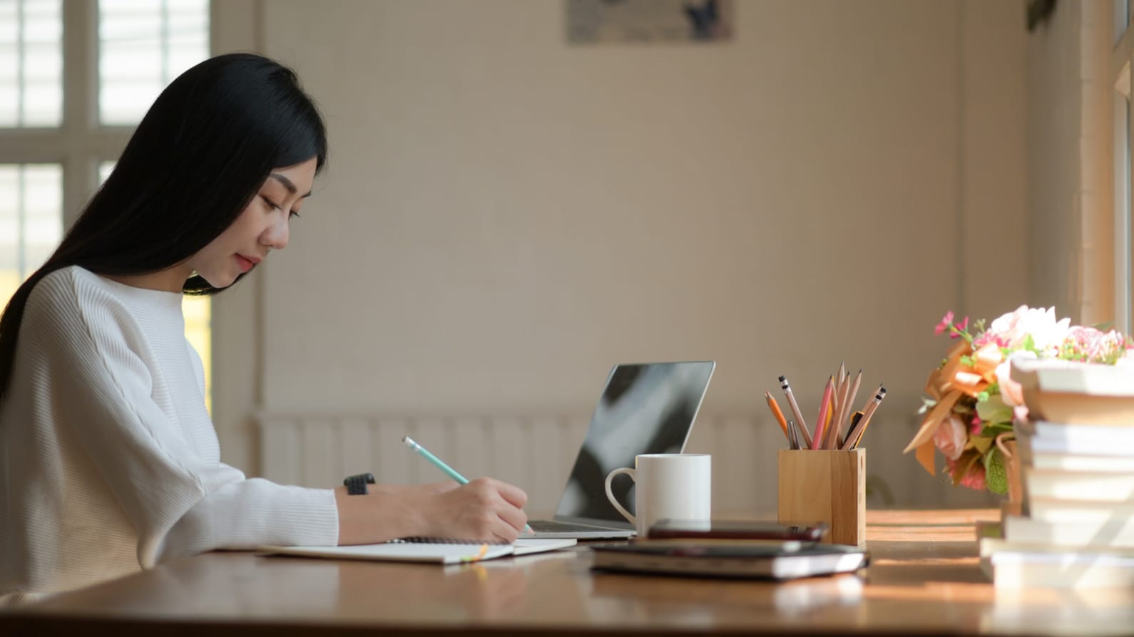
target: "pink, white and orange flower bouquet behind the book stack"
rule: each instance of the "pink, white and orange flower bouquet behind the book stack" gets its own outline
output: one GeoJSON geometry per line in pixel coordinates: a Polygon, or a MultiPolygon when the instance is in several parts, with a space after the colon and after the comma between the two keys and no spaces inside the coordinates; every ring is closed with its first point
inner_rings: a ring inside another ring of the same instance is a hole
{"type": "Polygon", "coordinates": [[[1112,365],[1134,348],[1119,332],[1057,321],[1053,307],[1022,305],[987,328],[983,320],[970,326],[967,316],[955,322],[949,312],[934,331],[956,343],[929,375],[929,398],[919,411],[925,418],[905,452],[916,450],[917,461],[933,475],[939,449],[953,484],[1000,494],[1008,491],[1008,472],[998,442],[1010,436],[1014,418],[1027,417],[1023,391],[1008,375],[1012,359],[1112,365]]]}

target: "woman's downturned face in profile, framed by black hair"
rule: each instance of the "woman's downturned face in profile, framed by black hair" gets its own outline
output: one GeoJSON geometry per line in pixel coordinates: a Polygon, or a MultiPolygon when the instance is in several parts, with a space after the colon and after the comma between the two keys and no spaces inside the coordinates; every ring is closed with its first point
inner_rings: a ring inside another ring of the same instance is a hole
{"type": "Polygon", "coordinates": [[[214,288],[231,286],[270,250],[287,247],[288,222],[311,196],[314,180],[315,158],[272,170],[236,221],[189,257],[186,265],[214,288]]]}

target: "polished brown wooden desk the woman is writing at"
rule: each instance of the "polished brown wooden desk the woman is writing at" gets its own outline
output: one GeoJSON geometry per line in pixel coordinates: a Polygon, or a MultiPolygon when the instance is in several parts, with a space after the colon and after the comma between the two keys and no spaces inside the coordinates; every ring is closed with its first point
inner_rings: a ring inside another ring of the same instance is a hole
{"type": "Polygon", "coordinates": [[[865,577],[786,584],[592,574],[589,551],[464,567],[208,553],[0,614],[0,635],[1134,634],[1134,593],[1005,592],[973,523],[870,511],[865,577]]]}

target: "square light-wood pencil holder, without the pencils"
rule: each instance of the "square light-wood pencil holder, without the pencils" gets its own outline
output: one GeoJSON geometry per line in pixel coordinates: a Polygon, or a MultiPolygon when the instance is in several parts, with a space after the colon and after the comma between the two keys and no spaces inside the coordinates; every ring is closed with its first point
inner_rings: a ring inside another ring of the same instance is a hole
{"type": "Polygon", "coordinates": [[[866,542],[866,450],[780,449],[780,524],[824,521],[823,542],[866,542]]]}

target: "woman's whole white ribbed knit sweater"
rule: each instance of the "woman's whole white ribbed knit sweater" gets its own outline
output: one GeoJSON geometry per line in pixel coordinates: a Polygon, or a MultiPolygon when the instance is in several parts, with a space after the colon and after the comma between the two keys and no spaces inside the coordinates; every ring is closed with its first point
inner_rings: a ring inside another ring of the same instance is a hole
{"type": "Polygon", "coordinates": [[[82,267],[32,290],[0,405],[0,605],[212,549],[333,545],[330,490],[220,461],[181,295],[82,267]]]}

